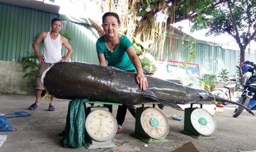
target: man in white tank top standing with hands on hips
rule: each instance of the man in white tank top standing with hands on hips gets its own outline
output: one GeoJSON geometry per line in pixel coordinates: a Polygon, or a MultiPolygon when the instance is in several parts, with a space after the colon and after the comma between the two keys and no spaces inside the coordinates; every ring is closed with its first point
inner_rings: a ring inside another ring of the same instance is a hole
{"type": "MultiPolygon", "coordinates": [[[[33,42],[33,49],[38,57],[38,61],[40,63],[38,68],[37,81],[35,82],[35,103],[33,103],[29,110],[35,110],[40,103],[40,97],[42,90],[44,90],[44,86],[41,84],[41,76],[44,71],[51,66],[52,63],[58,61],[67,61],[72,53],[72,47],[65,37],[59,34],[61,31],[62,21],[61,19],[54,18],[51,21],[51,31],[49,32],[41,32],[41,34],[35,39],[33,42]],[[40,54],[37,45],[42,42],[43,49],[42,55],[40,54]],[[61,49],[62,44],[66,47],[67,54],[65,58],[62,59],[61,49]]],[[[49,111],[55,111],[55,107],[53,106],[55,97],[51,96],[51,102],[49,102],[49,111]]]]}

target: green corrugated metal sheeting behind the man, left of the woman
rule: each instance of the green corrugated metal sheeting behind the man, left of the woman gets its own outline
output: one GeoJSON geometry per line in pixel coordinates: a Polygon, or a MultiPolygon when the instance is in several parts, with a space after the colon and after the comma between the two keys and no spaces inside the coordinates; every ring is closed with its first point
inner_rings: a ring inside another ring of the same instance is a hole
{"type": "MultiPolygon", "coordinates": [[[[51,20],[56,14],[41,12],[0,3],[0,60],[19,61],[34,52],[35,37],[42,31],[50,31],[51,20]]],[[[61,32],[72,35],[72,61],[98,63],[95,43],[97,31],[87,24],[63,21],[61,32]]],[[[40,52],[42,45],[38,46],[40,52]]],[[[63,47],[63,56],[66,52],[63,47]]]]}

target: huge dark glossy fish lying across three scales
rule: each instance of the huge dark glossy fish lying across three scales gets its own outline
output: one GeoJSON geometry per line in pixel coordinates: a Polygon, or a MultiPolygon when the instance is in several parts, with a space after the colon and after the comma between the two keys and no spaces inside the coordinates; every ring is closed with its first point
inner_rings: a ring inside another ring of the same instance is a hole
{"type": "MultiPolygon", "coordinates": [[[[232,102],[210,92],[176,84],[145,75],[148,88],[143,91],[135,81],[136,73],[122,71],[111,66],[81,62],[52,64],[42,75],[45,90],[59,99],[89,99],[126,105],[161,103],[180,108],[177,104],[232,102]]],[[[246,110],[253,114],[251,110],[246,110]]],[[[253,114],[254,115],[254,114],[253,114]]]]}

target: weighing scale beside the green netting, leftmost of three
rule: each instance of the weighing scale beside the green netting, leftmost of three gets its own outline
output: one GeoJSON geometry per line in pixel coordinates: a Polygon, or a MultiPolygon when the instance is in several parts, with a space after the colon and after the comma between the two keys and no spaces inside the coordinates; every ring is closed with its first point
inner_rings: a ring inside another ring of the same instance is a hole
{"type": "Polygon", "coordinates": [[[88,107],[86,110],[85,128],[85,146],[87,149],[116,147],[116,145],[112,143],[112,137],[116,134],[118,122],[113,114],[108,111],[108,108],[102,106],[88,107]]]}

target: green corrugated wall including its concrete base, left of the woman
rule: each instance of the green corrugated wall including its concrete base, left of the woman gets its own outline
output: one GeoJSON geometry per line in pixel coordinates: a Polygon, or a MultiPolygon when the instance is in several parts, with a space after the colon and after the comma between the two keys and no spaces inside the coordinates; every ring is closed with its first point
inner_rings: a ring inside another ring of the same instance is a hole
{"type": "MultiPolygon", "coordinates": [[[[32,43],[42,31],[51,30],[51,20],[58,14],[22,8],[0,3],[0,93],[34,93],[35,78],[23,76],[27,73],[20,65],[22,57],[30,56],[32,43]]],[[[62,21],[62,33],[70,36],[73,48],[69,61],[98,64],[95,43],[97,31],[85,23],[62,21]]],[[[42,45],[38,45],[40,52],[42,45]]],[[[67,50],[62,47],[62,55],[67,50]]]]}

